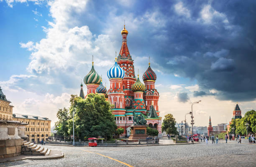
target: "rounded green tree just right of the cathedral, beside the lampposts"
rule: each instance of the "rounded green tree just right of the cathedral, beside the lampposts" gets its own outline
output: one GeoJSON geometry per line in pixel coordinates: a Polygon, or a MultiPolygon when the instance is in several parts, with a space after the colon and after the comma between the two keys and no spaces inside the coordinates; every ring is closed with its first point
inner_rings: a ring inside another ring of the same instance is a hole
{"type": "Polygon", "coordinates": [[[165,131],[167,134],[179,135],[177,127],[175,127],[175,123],[176,121],[172,114],[165,115],[162,123],[162,132],[165,131]]]}

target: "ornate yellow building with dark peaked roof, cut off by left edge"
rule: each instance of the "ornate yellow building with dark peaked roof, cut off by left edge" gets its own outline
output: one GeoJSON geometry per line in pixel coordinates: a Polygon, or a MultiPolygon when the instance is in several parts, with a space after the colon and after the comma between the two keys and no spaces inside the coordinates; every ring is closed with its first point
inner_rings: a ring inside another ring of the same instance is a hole
{"type": "Polygon", "coordinates": [[[0,120],[13,120],[13,106],[0,87],[0,120]]]}

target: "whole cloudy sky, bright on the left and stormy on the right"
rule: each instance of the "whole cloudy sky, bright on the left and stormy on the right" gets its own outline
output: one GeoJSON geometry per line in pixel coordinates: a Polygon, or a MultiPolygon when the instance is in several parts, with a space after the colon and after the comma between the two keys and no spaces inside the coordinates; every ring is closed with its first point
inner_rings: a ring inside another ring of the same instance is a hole
{"type": "Polygon", "coordinates": [[[156,72],[160,116],[184,121],[202,100],[193,105],[196,126],[209,116],[214,126],[228,123],[236,103],[242,115],[256,109],[255,15],[254,0],[0,0],[0,85],[14,113],[53,126],[92,55],[110,86],[125,20],[140,79],[148,57],[156,72]]]}

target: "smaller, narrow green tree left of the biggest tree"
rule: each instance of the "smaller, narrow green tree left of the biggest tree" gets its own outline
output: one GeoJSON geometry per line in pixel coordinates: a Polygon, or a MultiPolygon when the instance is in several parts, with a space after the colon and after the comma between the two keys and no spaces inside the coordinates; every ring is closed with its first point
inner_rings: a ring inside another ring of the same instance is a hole
{"type": "Polygon", "coordinates": [[[57,118],[58,121],[55,122],[55,130],[57,130],[57,133],[59,135],[62,135],[64,137],[69,137],[70,133],[68,132],[69,127],[69,119],[71,118],[69,115],[69,110],[67,108],[59,109],[57,112],[57,118]]]}

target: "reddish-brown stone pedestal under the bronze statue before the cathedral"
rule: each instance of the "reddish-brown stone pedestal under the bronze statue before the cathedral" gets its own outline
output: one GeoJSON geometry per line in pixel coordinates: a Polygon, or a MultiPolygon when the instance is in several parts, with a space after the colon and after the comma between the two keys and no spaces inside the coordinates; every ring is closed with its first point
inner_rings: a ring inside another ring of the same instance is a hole
{"type": "Polygon", "coordinates": [[[146,139],[147,135],[147,126],[145,125],[133,125],[131,126],[131,136],[130,140],[146,139]]]}

